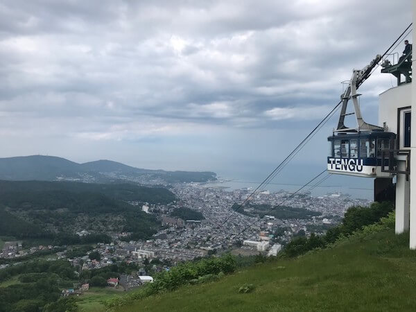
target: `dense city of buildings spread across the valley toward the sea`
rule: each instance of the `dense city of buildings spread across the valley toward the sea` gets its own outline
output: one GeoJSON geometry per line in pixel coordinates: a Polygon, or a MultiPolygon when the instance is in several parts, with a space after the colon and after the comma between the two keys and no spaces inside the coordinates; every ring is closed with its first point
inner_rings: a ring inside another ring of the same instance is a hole
{"type": "MultiPolygon", "coordinates": [[[[341,193],[316,197],[308,192],[293,195],[284,190],[261,191],[248,198],[252,193],[250,189],[228,191],[223,187],[209,187],[206,183],[176,183],[170,186],[170,191],[177,200],[169,204],[129,202],[162,223],[150,239],[125,241],[130,233],[108,232],[111,242],[98,243],[94,249],[75,256],[71,246],[24,248],[21,241],[6,241],[0,258],[13,259],[13,262],[0,264],[0,268],[17,265],[19,258],[24,259],[42,250],[49,250],[46,252],[48,260],[67,259],[77,270],[77,275],[83,270],[95,270],[116,263],[135,263],[141,269],[135,275],[121,275],[118,281],[118,286],[128,290],[143,284],[140,277],[143,279],[143,276],[154,272],[169,270],[180,261],[208,254],[231,252],[242,256],[276,256],[282,245],[291,241],[293,236],[324,233],[329,227],[340,223],[349,207],[370,204],[369,200],[353,199],[341,193]],[[239,204],[247,199],[247,203],[240,207],[239,204]],[[173,214],[173,211],[181,209],[195,211],[197,218],[180,218],[173,214]],[[91,257],[91,254],[95,256],[91,257]]],[[[108,221],[118,222],[116,218],[108,221]]],[[[83,237],[91,234],[92,229],[94,224],[89,228],[76,227],[75,232],[83,237]]],[[[107,284],[114,284],[114,281],[108,279],[107,284]]],[[[85,289],[85,285],[81,286],[78,285],[78,288],[85,289]]]]}

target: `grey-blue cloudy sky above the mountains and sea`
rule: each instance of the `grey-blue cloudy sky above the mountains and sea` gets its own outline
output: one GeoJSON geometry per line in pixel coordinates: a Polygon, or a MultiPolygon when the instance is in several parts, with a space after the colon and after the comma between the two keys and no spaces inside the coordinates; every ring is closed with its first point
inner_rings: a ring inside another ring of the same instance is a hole
{"type": "MultiPolygon", "coordinates": [[[[0,0],[0,157],[263,175],[338,102],[340,81],[410,24],[410,8],[0,0]]],[[[392,83],[376,71],[361,88],[370,121],[392,83]]],[[[335,123],[293,166],[324,168],[335,123]]]]}

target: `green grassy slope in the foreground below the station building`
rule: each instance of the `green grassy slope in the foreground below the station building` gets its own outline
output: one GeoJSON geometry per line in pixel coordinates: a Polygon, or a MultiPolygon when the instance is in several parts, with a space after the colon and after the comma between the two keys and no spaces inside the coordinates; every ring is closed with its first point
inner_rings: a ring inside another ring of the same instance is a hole
{"type": "Polygon", "coordinates": [[[394,230],[184,286],[116,311],[415,311],[416,252],[394,230]],[[252,293],[241,294],[243,284],[252,293]]]}

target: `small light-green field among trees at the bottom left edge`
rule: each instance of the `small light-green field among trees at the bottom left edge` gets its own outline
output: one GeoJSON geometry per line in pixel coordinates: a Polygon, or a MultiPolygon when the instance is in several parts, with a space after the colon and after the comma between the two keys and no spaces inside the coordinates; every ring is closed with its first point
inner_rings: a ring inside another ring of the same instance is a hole
{"type": "Polygon", "coordinates": [[[85,292],[77,300],[78,309],[82,312],[104,311],[105,306],[103,302],[105,300],[123,294],[123,291],[114,288],[90,287],[89,291],[85,292]]]}

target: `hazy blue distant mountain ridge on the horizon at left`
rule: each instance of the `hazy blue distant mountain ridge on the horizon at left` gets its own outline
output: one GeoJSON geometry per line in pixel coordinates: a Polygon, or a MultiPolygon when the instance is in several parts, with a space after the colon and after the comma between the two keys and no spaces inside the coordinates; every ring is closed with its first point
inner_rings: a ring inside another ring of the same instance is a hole
{"type": "Polygon", "coordinates": [[[216,180],[216,173],[149,170],[104,159],[78,164],[60,157],[33,155],[0,158],[0,180],[80,182],[128,180],[142,184],[168,184],[216,180]]]}

